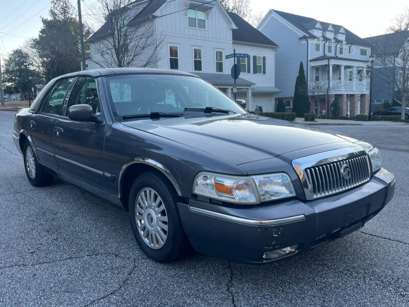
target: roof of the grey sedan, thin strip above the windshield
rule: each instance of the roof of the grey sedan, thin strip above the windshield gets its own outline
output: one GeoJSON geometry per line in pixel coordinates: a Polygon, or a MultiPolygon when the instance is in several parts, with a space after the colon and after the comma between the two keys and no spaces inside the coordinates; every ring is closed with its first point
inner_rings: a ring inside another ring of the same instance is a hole
{"type": "Polygon", "coordinates": [[[195,76],[190,73],[170,70],[170,69],[156,69],[156,68],[102,68],[92,69],[74,72],[59,76],[58,79],[77,77],[77,76],[90,76],[94,78],[111,76],[111,75],[123,75],[123,74],[163,74],[163,75],[181,75],[181,76],[195,76]]]}

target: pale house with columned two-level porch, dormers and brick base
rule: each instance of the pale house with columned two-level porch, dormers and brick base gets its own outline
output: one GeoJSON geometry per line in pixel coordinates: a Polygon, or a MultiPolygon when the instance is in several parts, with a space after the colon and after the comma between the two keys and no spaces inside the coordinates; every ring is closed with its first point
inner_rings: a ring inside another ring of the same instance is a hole
{"type": "Polygon", "coordinates": [[[336,98],[341,116],[368,114],[368,41],[343,26],[277,10],[269,10],[258,29],[280,46],[276,84],[281,93],[276,100],[283,99],[289,111],[302,61],[311,111],[327,114],[327,100],[330,105],[336,98]]]}

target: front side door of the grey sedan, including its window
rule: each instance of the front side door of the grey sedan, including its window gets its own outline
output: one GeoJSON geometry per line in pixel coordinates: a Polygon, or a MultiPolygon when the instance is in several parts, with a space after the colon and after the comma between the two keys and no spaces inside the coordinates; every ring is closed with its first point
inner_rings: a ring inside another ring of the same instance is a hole
{"type": "MultiPolygon", "coordinates": [[[[64,108],[65,114],[70,106],[77,104],[92,106],[96,115],[102,112],[95,78],[84,76],[76,80],[64,108]]],[[[103,168],[105,134],[105,124],[60,118],[54,135],[60,177],[85,189],[89,189],[89,185],[101,188],[104,181],[111,180],[103,168]]]]}

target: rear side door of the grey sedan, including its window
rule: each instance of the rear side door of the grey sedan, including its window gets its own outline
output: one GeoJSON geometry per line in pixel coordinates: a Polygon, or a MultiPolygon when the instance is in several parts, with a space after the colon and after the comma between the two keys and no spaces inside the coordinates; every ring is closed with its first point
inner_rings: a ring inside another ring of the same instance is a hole
{"type": "Polygon", "coordinates": [[[39,162],[54,171],[58,169],[54,157],[54,127],[62,116],[64,100],[73,80],[74,78],[59,80],[42,101],[39,111],[30,116],[28,123],[39,162]]]}

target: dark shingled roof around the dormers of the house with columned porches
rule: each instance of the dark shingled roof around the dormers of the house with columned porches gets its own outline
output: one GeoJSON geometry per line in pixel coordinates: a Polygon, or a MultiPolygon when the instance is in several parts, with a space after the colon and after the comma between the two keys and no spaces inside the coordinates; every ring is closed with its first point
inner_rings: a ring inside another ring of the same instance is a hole
{"type": "MultiPolygon", "coordinates": [[[[343,26],[335,25],[335,24],[330,24],[330,23],[325,23],[324,21],[321,20],[316,20],[311,17],[305,17],[305,16],[300,16],[296,14],[291,14],[291,13],[286,13],[282,11],[277,11],[277,10],[271,10],[277,13],[279,16],[283,17],[285,20],[287,20],[291,25],[297,27],[300,29],[302,32],[307,34],[310,37],[316,37],[312,33],[310,33],[308,30],[312,30],[317,23],[320,23],[323,32],[328,30],[328,28],[332,25],[332,28],[334,29],[335,33],[340,32],[342,28],[345,30],[345,40],[349,43],[356,44],[356,45],[361,45],[361,46],[368,46],[370,47],[371,45],[366,41],[365,39],[360,38],[358,35],[352,33],[348,29],[346,29],[343,26]],[[313,26],[312,26],[313,25],[313,26]],[[312,26],[312,27],[311,27],[312,26]]],[[[342,32],[340,32],[342,33],[342,32]]]]}

